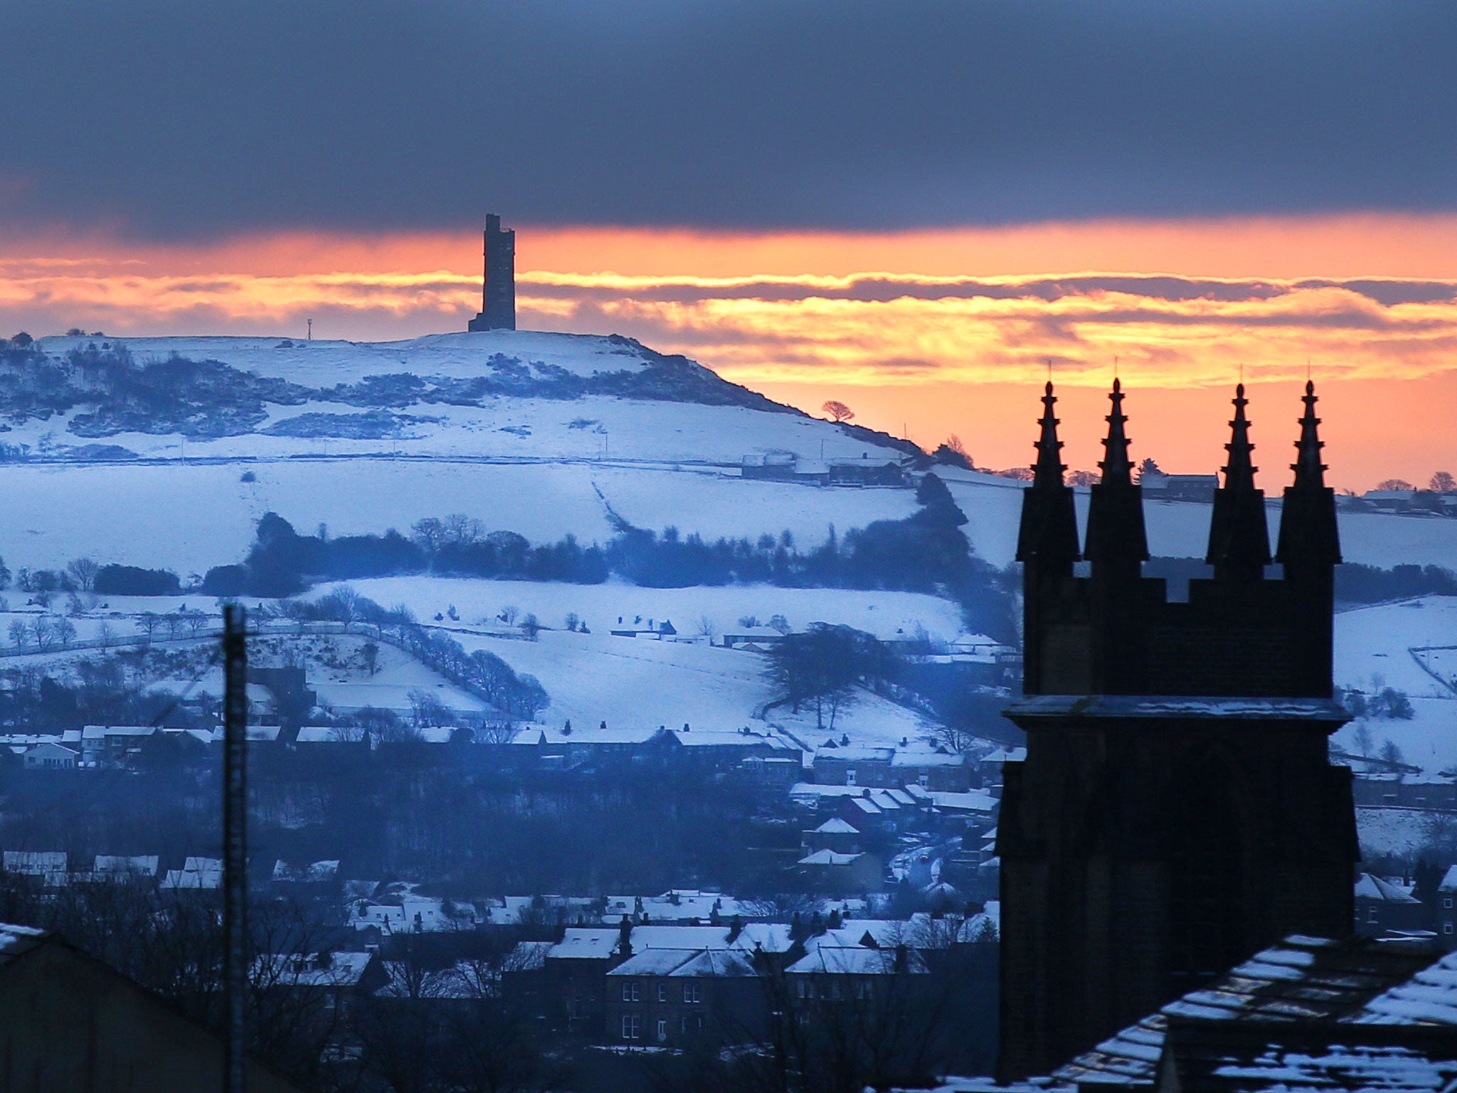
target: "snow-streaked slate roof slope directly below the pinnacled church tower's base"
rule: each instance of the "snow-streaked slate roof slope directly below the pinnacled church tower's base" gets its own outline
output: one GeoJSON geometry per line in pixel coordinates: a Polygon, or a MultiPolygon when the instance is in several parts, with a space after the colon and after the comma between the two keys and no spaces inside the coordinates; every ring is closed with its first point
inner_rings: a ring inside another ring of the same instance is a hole
{"type": "Polygon", "coordinates": [[[1059,1067],[1067,1083],[1151,1084],[1170,1017],[1319,1022],[1359,1011],[1429,965],[1429,950],[1371,939],[1287,937],[1059,1067]]]}

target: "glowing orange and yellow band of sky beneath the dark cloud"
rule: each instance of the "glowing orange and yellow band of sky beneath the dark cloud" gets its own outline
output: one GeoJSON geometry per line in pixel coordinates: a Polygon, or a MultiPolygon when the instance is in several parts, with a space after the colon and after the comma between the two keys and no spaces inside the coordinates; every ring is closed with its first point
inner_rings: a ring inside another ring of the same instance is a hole
{"type": "MultiPolygon", "coordinates": [[[[927,444],[956,431],[985,463],[1026,461],[1036,407],[1023,404],[1050,359],[1069,459],[1091,465],[1097,392],[1118,357],[1145,408],[1135,440],[1166,465],[1222,455],[1227,410],[1206,388],[1243,364],[1269,393],[1265,420],[1281,421],[1298,411],[1278,407],[1307,360],[1332,407],[1332,450],[1346,456],[1332,458],[1339,481],[1457,465],[1444,439],[1457,408],[1457,217],[861,235],[519,227],[523,326],[634,335],[810,410],[841,396],[867,424],[927,444]]],[[[476,252],[471,238],[439,235],[0,242],[0,324],[299,334],[313,318],[316,337],[411,337],[462,328],[478,309],[476,252]]]]}

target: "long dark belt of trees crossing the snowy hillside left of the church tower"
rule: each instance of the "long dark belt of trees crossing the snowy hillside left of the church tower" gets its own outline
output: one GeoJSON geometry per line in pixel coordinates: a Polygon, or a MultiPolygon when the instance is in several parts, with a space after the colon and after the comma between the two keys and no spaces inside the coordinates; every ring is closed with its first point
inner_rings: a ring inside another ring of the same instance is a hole
{"type": "Polygon", "coordinates": [[[890,589],[956,600],[970,628],[1014,634],[1011,581],[978,558],[962,526],[966,514],[934,474],[921,479],[918,510],[902,520],[876,520],[844,536],[830,528],[823,544],[800,549],[790,532],[778,538],[707,541],[675,528],[653,532],[618,522],[605,545],[583,546],[567,535],[532,545],[510,530],[491,530],[468,516],[420,520],[409,538],[299,535],[268,513],[246,560],[208,570],[214,596],[291,596],[316,580],[354,580],[431,573],[450,577],[559,580],[600,584],[621,577],[644,587],[777,584],[781,587],[890,589]]]}

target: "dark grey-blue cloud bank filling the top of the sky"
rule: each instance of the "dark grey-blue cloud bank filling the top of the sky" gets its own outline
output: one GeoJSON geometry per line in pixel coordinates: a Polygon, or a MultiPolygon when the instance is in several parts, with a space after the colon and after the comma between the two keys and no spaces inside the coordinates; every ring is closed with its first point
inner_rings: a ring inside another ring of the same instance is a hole
{"type": "Polygon", "coordinates": [[[0,41],[10,232],[1457,207],[1450,0],[35,0],[0,41]]]}

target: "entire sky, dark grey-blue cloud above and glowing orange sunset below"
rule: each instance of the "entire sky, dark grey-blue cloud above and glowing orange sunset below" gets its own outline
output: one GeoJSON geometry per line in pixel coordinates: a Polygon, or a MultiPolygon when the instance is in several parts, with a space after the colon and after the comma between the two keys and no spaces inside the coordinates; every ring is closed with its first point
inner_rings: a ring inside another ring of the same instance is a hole
{"type": "MultiPolygon", "coordinates": [[[[0,325],[621,332],[982,465],[1457,469],[1457,7],[47,0],[0,7],[0,325]]],[[[9,334],[10,331],[4,331],[9,334]]]]}

